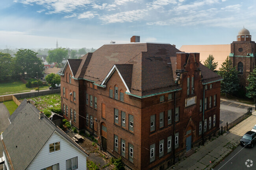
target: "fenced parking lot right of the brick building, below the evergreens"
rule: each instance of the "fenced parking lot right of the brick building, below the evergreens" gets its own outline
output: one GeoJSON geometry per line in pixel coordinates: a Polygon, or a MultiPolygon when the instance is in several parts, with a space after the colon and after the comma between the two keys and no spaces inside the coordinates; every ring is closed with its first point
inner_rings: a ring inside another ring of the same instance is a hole
{"type": "Polygon", "coordinates": [[[226,126],[226,122],[233,122],[238,117],[245,114],[249,107],[252,107],[254,110],[253,105],[221,99],[220,127],[226,126]]]}

